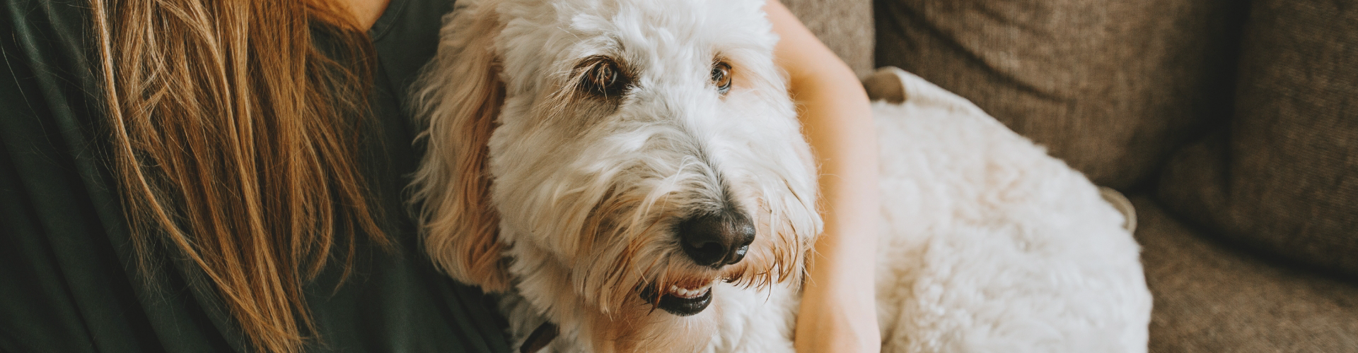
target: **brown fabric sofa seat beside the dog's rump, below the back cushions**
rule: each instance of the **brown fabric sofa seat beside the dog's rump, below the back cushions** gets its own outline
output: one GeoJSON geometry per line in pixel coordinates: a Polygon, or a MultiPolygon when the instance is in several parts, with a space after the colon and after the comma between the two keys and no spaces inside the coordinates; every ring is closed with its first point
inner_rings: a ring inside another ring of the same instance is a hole
{"type": "Polygon", "coordinates": [[[1358,352],[1358,284],[1260,261],[1133,197],[1150,352],[1358,352]]]}

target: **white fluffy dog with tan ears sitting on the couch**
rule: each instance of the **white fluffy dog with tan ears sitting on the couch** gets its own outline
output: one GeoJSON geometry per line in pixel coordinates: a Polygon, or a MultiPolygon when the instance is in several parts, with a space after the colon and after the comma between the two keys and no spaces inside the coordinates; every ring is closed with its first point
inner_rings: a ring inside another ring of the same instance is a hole
{"type": "MultiPolygon", "coordinates": [[[[463,0],[417,84],[425,247],[521,352],[792,352],[816,166],[758,0],[463,0]]],[[[877,103],[887,352],[1145,352],[1097,189],[899,73],[877,103]]]]}

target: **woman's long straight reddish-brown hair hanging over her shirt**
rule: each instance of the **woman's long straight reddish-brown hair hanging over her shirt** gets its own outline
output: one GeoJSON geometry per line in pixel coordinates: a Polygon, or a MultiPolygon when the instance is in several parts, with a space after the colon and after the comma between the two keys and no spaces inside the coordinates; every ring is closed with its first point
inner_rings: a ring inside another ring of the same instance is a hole
{"type": "Polygon", "coordinates": [[[300,350],[303,284],[333,248],[348,274],[363,240],[340,232],[386,244],[356,160],[365,31],[323,0],[90,1],[143,273],[156,251],[186,258],[258,350],[300,350]]]}

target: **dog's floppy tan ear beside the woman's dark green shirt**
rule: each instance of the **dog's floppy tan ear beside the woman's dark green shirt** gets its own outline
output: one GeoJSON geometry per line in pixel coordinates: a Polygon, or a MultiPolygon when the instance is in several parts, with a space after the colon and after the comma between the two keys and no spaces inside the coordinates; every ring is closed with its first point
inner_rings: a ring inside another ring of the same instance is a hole
{"type": "Polygon", "coordinates": [[[504,103],[494,54],[502,24],[496,1],[474,3],[444,16],[439,53],[414,86],[426,149],[411,183],[413,205],[422,208],[430,259],[459,281],[500,292],[509,276],[497,236],[500,216],[490,204],[486,143],[504,103]]]}

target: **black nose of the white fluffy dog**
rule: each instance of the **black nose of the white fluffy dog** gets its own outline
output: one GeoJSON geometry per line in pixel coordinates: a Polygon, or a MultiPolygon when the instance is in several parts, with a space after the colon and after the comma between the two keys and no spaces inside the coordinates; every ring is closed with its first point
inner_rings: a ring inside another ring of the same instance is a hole
{"type": "Polygon", "coordinates": [[[735,212],[699,215],[679,221],[679,247],[701,266],[740,262],[755,242],[755,225],[735,212]]]}

